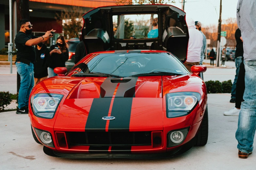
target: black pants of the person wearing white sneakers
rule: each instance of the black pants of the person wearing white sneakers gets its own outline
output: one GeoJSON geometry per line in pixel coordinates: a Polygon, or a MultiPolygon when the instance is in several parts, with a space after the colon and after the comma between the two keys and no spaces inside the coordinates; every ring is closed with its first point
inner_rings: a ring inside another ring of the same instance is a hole
{"type": "Polygon", "coordinates": [[[241,108],[244,92],[245,92],[245,64],[244,64],[244,59],[242,59],[242,63],[240,64],[239,73],[236,81],[236,91],[235,91],[235,94],[236,94],[235,107],[236,108],[241,108]]]}

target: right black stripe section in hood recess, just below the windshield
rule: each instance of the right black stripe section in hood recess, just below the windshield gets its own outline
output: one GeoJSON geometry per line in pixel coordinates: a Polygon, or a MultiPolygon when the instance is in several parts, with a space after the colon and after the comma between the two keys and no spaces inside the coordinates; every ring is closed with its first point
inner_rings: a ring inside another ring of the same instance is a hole
{"type": "MultiPolygon", "coordinates": [[[[125,78],[123,79],[125,80],[125,78]]],[[[138,77],[131,79],[127,83],[120,83],[115,97],[135,97],[135,86],[138,77]]]]}

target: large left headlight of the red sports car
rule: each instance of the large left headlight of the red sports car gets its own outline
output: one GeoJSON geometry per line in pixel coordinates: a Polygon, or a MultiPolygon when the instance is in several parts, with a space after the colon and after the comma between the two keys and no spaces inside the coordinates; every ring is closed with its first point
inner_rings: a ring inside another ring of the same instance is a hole
{"type": "Polygon", "coordinates": [[[52,93],[39,93],[32,95],[30,105],[34,115],[40,118],[51,119],[60,104],[63,95],[52,93]]]}

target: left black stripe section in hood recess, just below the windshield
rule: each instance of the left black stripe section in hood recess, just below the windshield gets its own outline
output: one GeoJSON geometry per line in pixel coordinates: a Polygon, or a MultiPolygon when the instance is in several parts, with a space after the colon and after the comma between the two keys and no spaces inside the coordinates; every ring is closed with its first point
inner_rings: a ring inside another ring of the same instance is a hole
{"type": "Polygon", "coordinates": [[[100,97],[113,97],[117,84],[112,83],[111,78],[106,78],[100,86],[100,97]]]}

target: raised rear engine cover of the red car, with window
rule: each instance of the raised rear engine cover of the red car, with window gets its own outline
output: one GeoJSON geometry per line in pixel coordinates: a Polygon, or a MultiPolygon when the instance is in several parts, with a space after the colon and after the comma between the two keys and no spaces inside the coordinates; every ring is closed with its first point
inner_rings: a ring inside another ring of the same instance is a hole
{"type": "Polygon", "coordinates": [[[185,61],[189,39],[185,15],[170,5],[98,7],[83,15],[82,40],[87,53],[165,50],[185,61]],[[154,18],[158,25],[153,28],[154,18]]]}

